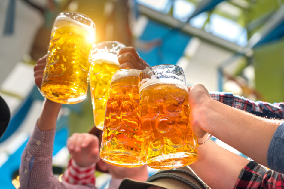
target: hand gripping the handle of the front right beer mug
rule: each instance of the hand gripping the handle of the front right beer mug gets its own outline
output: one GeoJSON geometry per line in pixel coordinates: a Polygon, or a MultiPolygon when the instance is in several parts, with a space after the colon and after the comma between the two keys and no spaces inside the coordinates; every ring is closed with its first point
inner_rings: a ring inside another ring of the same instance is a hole
{"type": "Polygon", "coordinates": [[[201,138],[206,134],[206,131],[203,130],[200,119],[203,114],[203,108],[208,99],[211,99],[208,90],[201,84],[193,85],[188,87],[188,103],[190,107],[189,113],[189,123],[191,125],[192,131],[194,134],[201,138]]]}

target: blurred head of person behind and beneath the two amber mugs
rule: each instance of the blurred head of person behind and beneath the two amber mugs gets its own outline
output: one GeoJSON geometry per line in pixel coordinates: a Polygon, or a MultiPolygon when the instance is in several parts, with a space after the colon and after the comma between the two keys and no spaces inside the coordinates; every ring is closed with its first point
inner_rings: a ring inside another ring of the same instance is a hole
{"type": "MultiPolygon", "coordinates": [[[[99,138],[99,144],[102,143],[102,130],[99,130],[95,126],[91,128],[89,131],[90,134],[96,135],[99,138]]],[[[99,146],[100,147],[100,146],[99,146]]],[[[142,173],[147,171],[147,166],[139,166],[139,167],[119,167],[114,166],[111,164],[108,164],[102,160],[100,160],[96,165],[96,170],[103,172],[103,173],[109,173],[113,178],[123,179],[126,177],[131,177],[133,175],[136,175],[137,173],[142,173]]]]}

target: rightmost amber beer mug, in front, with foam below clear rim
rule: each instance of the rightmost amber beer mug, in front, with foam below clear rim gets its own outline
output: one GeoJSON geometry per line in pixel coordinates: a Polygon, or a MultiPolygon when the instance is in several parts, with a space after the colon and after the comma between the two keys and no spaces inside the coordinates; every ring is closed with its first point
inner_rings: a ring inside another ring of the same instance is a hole
{"type": "MultiPolygon", "coordinates": [[[[158,65],[142,70],[139,95],[147,165],[172,169],[195,162],[198,139],[189,125],[188,88],[182,68],[158,65]]],[[[204,137],[207,141],[211,135],[204,137]]]]}

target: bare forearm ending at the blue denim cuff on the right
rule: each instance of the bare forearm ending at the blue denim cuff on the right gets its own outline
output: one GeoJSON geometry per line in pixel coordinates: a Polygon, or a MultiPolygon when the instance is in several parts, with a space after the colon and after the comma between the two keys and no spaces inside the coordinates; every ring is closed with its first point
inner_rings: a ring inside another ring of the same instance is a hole
{"type": "Polygon", "coordinates": [[[205,107],[199,120],[204,131],[267,166],[268,147],[281,120],[254,116],[212,99],[205,107]]]}

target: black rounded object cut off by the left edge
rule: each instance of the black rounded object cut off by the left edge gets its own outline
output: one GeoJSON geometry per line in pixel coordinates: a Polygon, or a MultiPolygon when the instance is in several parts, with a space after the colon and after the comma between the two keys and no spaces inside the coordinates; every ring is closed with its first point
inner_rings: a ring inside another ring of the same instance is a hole
{"type": "Polygon", "coordinates": [[[10,110],[4,99],[0,96],[0,138],[6,131],[10,121],[10,110]]]}

